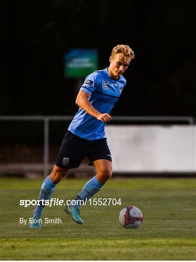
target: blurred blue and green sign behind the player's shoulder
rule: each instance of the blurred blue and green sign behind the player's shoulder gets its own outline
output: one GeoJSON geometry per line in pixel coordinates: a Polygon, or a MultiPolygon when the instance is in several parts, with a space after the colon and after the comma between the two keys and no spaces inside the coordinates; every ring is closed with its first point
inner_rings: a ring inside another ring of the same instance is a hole
{"type": "Polygon", "coordinates": [[[65,55],[65,77],[84,78],[97,70],[97,49],[72,49],[65,55]]]}

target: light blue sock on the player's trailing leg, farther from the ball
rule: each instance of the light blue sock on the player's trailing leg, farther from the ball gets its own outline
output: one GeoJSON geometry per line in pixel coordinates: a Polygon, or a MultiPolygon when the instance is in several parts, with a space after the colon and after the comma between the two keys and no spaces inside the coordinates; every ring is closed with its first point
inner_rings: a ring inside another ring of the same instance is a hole
{"type": "MultiPolygon", "coordinates": [[[[56,184],[54,184],[51,180],[50,177],[48,176],[42,183],[42,189],[40,191],[40,196],[38,197],[38,200],[47,200],[51,197],[55,190],[56,184]]],[[[39,216],[40,218],[42,217],[42,211],[43,211],[44,205],[40,203],[40,205],[37,205],[34,212],[33,216],[39,216]]]]}

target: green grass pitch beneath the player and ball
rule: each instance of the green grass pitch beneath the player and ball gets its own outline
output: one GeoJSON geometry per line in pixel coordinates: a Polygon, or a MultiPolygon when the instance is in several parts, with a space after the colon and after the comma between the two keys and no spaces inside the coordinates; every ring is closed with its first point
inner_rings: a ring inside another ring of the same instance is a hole
{"type": "MultiPolygon", "coordinates": [[[[53,195],[72,199],[86,180],[65,179],[53,195]]],[[[44,217],[61,224],[29,229],[19,218],[34,207],[20,199],[36,199],[42,180],[1,179],[1,260],[196,260],[195,179],[112,179],[95,196],[121,198],[121,205],[81,208],[84,225],[70,219],[63,206],[45,207],[44,217]],[[143,213],[139,229],[124,229],[121,209],[134,205],[143,213]]]]}

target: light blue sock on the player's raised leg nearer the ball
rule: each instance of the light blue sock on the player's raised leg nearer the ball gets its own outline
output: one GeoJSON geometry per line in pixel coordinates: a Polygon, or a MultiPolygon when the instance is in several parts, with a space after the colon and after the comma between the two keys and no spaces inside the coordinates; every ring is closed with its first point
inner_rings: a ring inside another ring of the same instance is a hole
{"type": "MultiPolygon", "coordinates": [[[[95,194],[98,193],[98,191],[101,190],[103,184],[101,184],[96,176],[93,177],[91,180],[89,180],[85,185],[82,191],[74,198],[74,200],[82,199],[82,200],[87,200],[91,197],[93,197],[95,194]]],[[[80,202],[76,203],[75,205],[71,204],[71,206],[80,206],[80,202]]]]}

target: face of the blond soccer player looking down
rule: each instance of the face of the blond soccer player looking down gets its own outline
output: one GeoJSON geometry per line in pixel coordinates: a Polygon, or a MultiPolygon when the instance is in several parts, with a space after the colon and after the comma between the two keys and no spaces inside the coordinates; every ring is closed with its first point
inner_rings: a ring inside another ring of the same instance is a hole
{"type": "Polygon", "coordinates": [[[122,53],[113,54],[110,57],[110,66],[108,68],[110,76],[118,79],[126,71],[130,61],[130,57],[126,57],[122,53]]]}

